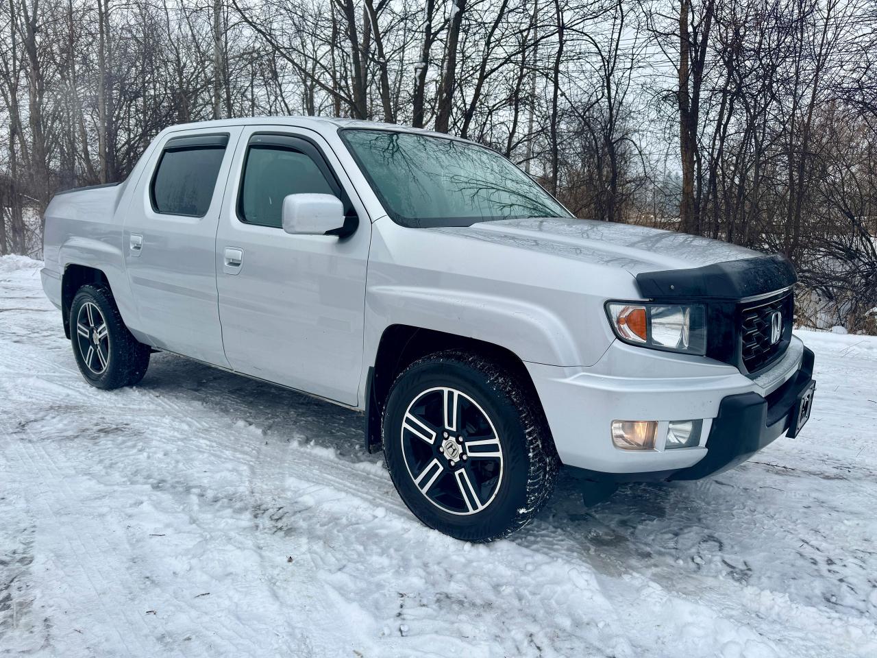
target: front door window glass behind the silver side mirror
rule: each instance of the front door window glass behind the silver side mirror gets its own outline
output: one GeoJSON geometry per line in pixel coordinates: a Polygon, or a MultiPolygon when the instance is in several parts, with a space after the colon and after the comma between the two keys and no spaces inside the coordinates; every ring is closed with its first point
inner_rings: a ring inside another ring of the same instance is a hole
{"type": "MultiPolygon", "coordinates": [[[[254,136],[247,147],[238,215],[247,224],[281,228],[283,197],[303,192],[342,198],[327,165],[303,139],[254,136]]],[[[342,198],[342,201],[344,199],[342,198]]]]}

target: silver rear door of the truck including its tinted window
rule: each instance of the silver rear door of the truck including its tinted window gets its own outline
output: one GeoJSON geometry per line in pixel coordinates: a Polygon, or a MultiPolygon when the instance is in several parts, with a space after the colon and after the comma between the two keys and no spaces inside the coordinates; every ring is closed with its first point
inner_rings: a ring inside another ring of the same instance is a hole
{"type": "Polygon", "coordinates": [[[225,368],[214,253],[240,131],[168,133],[139,181],[122,246],[141,331],[155,347],[225,368]]]}

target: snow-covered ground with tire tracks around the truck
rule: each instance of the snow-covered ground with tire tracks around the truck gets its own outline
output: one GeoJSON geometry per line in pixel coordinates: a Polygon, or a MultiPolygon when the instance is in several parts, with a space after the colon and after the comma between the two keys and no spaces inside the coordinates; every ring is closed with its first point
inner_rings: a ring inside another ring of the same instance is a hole
{"type": "Polygon", "coordinates": [[[700,483],[473,546],[362,419],[155,355],[89,388],[39,263],[0,259],[0,654],[877,656],[877,340],[801,333],[809,425],[700,483]]]}

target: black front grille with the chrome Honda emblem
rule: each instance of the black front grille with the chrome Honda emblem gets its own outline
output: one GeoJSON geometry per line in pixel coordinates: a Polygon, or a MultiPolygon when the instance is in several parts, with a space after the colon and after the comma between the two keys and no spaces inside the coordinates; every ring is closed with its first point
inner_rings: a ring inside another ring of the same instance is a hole
{"type": "Polygon", "coordinates": [[[786,352],[792,334],[795,298],[792,292],[745,304],[740,310],[740,356],[749,373],[757,372],[786,352]],[[779,340],[774,340],[774,313],[781,314],[779,340]]]}

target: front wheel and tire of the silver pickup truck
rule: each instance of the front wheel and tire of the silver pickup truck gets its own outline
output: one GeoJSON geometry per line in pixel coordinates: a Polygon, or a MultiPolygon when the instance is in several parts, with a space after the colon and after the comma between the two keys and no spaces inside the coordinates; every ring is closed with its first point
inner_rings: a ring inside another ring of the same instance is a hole
{"type": "Polygon", "coordinates": [[[560,461],[545,415],[499,362],[457,350],[415,361],[389,391],[381,432],[403,502],[456,539],[506,537],[551,497],[560,461]]]}

